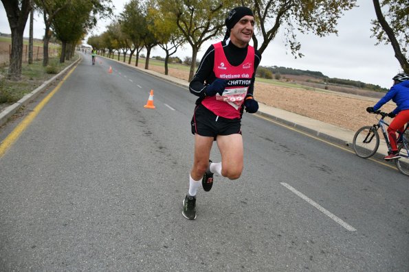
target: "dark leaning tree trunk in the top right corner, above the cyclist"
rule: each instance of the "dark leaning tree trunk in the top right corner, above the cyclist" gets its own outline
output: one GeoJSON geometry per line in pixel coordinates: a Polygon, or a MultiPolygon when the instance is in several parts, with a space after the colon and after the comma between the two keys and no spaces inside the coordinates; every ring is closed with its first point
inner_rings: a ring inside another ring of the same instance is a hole
{"type": "Polygon", "coordinates": [[[401,64],[402,69],[404,69],[405,73],[409,73],[409,63],[406,60],[405,55],[401,51],[401,47],[399,46],[399,42],[397,41],[395,34],[393,33],[393,29],[390,28],[388,22],[385,20],[384,14],[382,14],[381,5],[379,5],[379,0],[373,0],[373,6],[375,7],[375,13],[377,19],[379,21],[379,25],[381,25],[382,29],[389,38],[390,44],[393,47],[393,51],[395,51],[395,58],[401,64]]]}

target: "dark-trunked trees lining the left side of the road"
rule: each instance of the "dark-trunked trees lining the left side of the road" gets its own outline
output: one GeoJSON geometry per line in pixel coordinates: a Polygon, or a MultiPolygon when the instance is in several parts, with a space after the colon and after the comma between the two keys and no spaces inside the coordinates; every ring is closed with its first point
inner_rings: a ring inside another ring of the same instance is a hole
{"type": "Polygon", "coordinates": [[[12,32],[9,77],[21,77],[23,33],[27,18],[33,10],[43,14],[43,66],[48,65],[48,45],[52,34],[62,43],[60,61],[65,53],[73,52],[75,45],[94,27],[98,17],[112,14],[111,0],[1,0],[12,32]],[[71,45],[67,47],[67,45],[71,45]]]}

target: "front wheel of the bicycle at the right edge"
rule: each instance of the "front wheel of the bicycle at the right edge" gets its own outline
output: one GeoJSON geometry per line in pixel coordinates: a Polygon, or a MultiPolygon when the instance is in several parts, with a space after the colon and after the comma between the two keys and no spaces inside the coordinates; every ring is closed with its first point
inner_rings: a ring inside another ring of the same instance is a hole
{"type": "Polygon", "coordinates": [[[379,147],[379,134],[375,127],[361,127],[353,136],[353,151],[360,158],[369,158],[379,147]]]}

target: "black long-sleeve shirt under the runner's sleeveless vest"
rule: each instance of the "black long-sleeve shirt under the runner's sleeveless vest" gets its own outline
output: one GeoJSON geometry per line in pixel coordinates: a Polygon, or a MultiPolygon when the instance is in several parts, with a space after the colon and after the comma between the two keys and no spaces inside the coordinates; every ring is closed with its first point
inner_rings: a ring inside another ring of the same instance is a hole
{"type": "MultiPolygon", "coordinates": [[[[240,48],[233,45],[232,42],[222,42],[223,51],[225,53],[228,62],[233,66],[239,66],[245,60],[247,56],[247,47],[240,48]]],[[[261,54],[254,50],[254,73],[252,75],[252,82],[250,87],[247,90],[247,94],[253,95],[254,91],[254,80],[256,79],[256,70],[258,64],[261,62],[261,54]]],[[[193,95],[198,96],[199,98],[205,97],[204,90],[209,84],[212,84],[216,79],[216,75],[213,72],[214,66],[214,46],[210,45],[205,55],[201,59],[199,68],[197,69],[195,76],[189,84],[189,90],[193,95]]]]}

